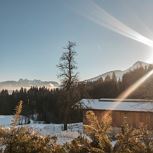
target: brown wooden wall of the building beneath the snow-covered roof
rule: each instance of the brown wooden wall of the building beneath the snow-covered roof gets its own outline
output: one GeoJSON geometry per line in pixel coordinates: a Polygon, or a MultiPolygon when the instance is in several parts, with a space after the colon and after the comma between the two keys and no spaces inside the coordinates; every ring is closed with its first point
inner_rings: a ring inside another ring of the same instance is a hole
{"type": "MultiPolygon", "coordinates": [[[[89,124],[86,119],[86,112],[83,111],[83,123],[89,124]]],[[[106,114],[110,111],[91,110],[95,113],[99,121],[104,120],[106,114]]],[[[153,113],[151,112],[128,112],[128,111],[111,111],[112,127],[121,127],[124,118],[126,118],[130,127],[140,128],[147,127],[153,129],[153,113]]]]}

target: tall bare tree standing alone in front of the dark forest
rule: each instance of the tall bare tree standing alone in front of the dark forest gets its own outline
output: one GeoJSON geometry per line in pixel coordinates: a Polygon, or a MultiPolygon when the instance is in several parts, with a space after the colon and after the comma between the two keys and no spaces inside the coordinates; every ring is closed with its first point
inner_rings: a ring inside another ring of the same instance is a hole
{"type": "Polygon", "coordinates": [[[69,112],[72,109],[72,105],[77,100],[77,93],[74,91],[74,86],[78,81],[78,73],[75,72],[77,69],[75,62],[76,52],[74,51],[75,46],[76,44],[74,42],[68,42],[67,46],[64,48],[66,51],[63,52],[60,62],[57,65],[60,71],[58,77],[61,79],[61,86],[64,93],[61,98],[62,107],[64,108],[64,130],[67,130],[69,112]]]}

